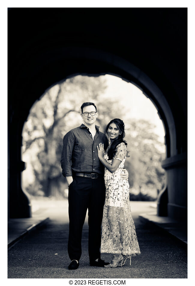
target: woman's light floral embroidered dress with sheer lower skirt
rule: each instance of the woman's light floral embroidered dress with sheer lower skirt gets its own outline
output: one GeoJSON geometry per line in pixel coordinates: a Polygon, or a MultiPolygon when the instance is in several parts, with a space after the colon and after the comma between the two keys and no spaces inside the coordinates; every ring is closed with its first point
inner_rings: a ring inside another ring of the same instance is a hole
{"type": "MultiPolygon", "coordinates": [[[[104,158],[108,160],[108,146],[104,158]]],[[[102,221],[101,253],[121,253],[127,256],[140,254],[140,248],[131,215],[129,183],[120,176],[127,155],[126,145],[122,142],[116,147],[115,159],[121,160],[118,169],[110,173],[105,168],[104,181],[106,199],[102,221]]]]}

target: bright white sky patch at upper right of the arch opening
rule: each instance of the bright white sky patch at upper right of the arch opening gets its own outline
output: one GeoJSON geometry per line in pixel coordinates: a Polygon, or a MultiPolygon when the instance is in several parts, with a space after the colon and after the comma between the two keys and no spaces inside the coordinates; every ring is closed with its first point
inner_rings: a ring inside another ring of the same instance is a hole
{"type": "Polygon", "coordinates": [[[158,116],[158,111],[152,101],[134,84],[126,82],[117,76],[105,75],[107,89],[105,96],[121,99],[124,112],[128,117],[145,119],[155,124],[155,133],[159,136],[159,141],[164,143],[164,127],[162,120],[158,116]]]}

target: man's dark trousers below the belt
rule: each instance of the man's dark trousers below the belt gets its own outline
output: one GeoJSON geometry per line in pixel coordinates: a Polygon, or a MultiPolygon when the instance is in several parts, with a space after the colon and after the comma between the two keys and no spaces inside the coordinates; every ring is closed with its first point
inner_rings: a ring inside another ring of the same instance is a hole
{"type": "Polygon", "coordinates": [[[70,260],[81,257],[82,227],[88,208],[88,252],[89,260],[100,258],[101,223],[105,201],[104,175],[97,179],[73,176],[68,190],[69,238],[68,255],[70,260]]]}

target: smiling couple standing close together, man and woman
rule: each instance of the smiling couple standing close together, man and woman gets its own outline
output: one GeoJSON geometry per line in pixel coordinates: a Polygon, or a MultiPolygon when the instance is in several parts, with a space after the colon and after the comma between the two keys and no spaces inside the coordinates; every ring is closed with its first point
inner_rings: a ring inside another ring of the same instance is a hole
{"type": "Polygon", "coordinates": [[[131,256],[140,254],[140,248],[130,210],[128,172],[123,169],[128,154],[125,125],[113,119],[104,135],[95,125],[95,104],[83,103],[81,112],[84,124],[64,136],[61,154],[62,174],[68,182],[68,269],[79,267],[87,209],[90,265],[110,268],[124,265],[127,259],[131,265],[131,256]],[[110,263],[101,260],[100,247],[101,253],[113,253],[110,263]]]}

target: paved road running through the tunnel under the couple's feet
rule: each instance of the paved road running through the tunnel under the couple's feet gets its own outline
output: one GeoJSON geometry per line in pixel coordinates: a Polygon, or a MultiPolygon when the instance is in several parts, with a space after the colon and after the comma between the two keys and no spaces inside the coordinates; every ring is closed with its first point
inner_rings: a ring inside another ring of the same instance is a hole
{"type": "MultiPolygon", "coordinates": [[[[44,228],[26,236],[8,251],[8,278],[187,278],[187,250],[160,229],[139,221],[141,212],[151,211],[149,203],[132,202],[131,210],[141,251],[140,256],[131,259],[131,266],[113,269],[89,266],[85,220],[80,266],[68,270],[67,201],[61,201],[45,207],[50,220],[44,228]]],[[[106,261],[111,257],[101,256],[106,261]]]]}

